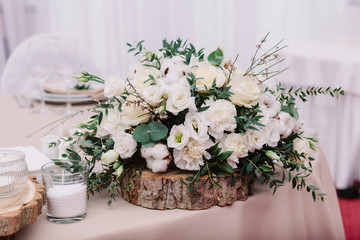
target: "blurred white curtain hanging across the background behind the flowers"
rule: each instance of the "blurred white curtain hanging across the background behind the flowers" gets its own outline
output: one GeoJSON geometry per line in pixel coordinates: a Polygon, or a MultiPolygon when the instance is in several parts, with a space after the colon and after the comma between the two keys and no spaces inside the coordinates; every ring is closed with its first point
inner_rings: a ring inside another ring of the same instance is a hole
{"type": "Polygon", "coordinates": [[[148,48],[158,48],[165,37],[188,39],[208,52],[221,45],[247,66],[268,31],[271,42],[341,36],[349,1],[358,0],[0,0],[0,71],[14,48],[39,32],[77,39],[104,77],[126,70],[126,42],[145,39],[148,48]]]}

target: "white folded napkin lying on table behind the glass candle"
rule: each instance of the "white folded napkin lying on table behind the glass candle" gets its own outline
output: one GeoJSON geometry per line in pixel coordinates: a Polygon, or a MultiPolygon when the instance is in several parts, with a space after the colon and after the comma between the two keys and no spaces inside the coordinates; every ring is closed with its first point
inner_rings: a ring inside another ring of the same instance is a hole
{"type": "Polygon", "coordinates": [[[10,149],[19,150],[25,153],[25,160],[28,165],[29,175],[35,176],[36,180],[42,184],[41,167],[45,163],[51,162],[51,160],[33,146],[11,147],[10,149]]]}

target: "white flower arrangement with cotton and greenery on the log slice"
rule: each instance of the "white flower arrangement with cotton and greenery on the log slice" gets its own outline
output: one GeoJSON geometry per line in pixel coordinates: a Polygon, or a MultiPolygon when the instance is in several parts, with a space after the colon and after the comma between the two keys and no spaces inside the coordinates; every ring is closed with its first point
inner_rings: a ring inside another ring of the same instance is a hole
{"type": "Polygon", "coordinates": [[[108,101],[92,108],[94,115],[64,140],[70,147],[63,157],[79,161],[84,156],[92,171],[90,193],[108,189],[112,199],[125,173],[135,179],[148,168],[192,171],[183,182],[189,191],[200,176],[218,187],[225,174],[248,175],[274,192],[292,181],[297,190],[311,191],[314,201],[324,200],[326,194],[306,183],[316,139],[304,136],[295,98],[344,92],[273,84],[271,78],[286,70],[273,70],[284,60],[279,51],[286,46],[280,41],[263,50],[267,36],[246,70],[236,65],[237,58],[224,57],[221,48],[205,56],[204,49],[181,39],[163,40],[157,51],[145,49],[144,41],[127,43],[139,61],[130,66],[126,81],[119,74],[106,81],[87,72],[75,76],[103,83],[108,101]],[[101,171],[93,171],[96,163],[101,171]]]}

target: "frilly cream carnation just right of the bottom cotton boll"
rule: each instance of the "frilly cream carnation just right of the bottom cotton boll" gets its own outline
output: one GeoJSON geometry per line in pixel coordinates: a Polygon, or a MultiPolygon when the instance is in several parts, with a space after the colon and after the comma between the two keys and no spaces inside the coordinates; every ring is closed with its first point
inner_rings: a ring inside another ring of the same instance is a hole
{"type": "Polygon", "coordinates": [[[199,170],[204,165],[203,156],[211,157],[206,150],[213,145],[210,139],[204,143],[190,139],[181,150],[174,149],[175,165],[183,170],[199,170]]]}

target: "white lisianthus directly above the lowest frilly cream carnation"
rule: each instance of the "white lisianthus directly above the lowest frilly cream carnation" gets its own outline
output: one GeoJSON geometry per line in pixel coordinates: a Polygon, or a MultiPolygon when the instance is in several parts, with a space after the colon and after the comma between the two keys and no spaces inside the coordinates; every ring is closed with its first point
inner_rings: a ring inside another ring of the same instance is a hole
{"type": "Polygon", "coordinates": [[[208,121],[203,112],[188,112],[185,116],[185,126],[189,130],[190,137],[202,143],[209,139],[208,121]]]}

